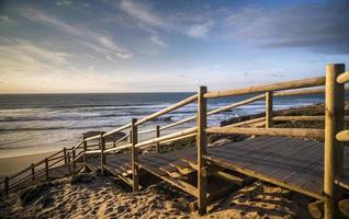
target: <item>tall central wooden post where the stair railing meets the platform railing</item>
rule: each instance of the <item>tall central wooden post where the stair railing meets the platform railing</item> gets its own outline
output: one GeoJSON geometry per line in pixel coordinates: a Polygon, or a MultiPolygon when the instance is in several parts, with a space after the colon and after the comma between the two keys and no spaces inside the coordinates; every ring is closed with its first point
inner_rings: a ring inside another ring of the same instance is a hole
{"type": "Polygon", "coordinates": [[[207,92],[206,87],[200,87],[198,90],[198,116],[196,116],[196,147],[198,147],[198,208],[199,215],[206,214],[206,191],[207,178],[203,174],[206,168],[203,155],[206,153],[206,134],[207,126],[207,100],[203,96],[207,92]]]}

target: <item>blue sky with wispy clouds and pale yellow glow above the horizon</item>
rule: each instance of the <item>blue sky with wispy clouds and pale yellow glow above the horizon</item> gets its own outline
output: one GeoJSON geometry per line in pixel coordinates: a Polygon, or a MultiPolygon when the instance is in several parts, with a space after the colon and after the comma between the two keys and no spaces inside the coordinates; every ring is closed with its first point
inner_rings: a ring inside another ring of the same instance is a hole
{"type": "Polygon", "coordinates": [[[183,92],[349,68],[347,0],[0,0],[0,93],[183,92]]]}

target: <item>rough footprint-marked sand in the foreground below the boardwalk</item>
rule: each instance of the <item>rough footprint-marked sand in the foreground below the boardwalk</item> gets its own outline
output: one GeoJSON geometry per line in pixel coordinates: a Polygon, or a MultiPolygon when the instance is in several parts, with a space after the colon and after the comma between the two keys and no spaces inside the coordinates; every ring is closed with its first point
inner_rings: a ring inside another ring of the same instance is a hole
{"type": "MultiPolygon", "coordinates": [[[[136,194],[114,178],[54,181],[23,204],[21,193],[1,199],[1,218],[200,218],[185,193],[158,183],[136,194]]],[[[209,207],[203,218],[311,218],[309,200],[288,189],[256,182],[209,207]]]]}

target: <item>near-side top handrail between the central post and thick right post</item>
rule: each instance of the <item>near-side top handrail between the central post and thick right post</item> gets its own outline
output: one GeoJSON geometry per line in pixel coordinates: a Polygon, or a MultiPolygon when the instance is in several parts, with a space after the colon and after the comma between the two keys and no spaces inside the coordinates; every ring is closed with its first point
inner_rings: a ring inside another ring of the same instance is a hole
{"type": "Polygon", "coordinates": [[[271,83],[271,84],[260,85],[260,87],[249,87],[244,89],[234,89],[234,90],[225,90],[225,91],[213,91],[213,92],[206,93],[204,97],[213,99],[213,97],[237,96],[237,95],[254,94],[254,93],[260,93],[260,92],[267,92],[267,91],[302,89],[302,88],[317,87],[317,85],[324,85],[324,84],[325,84],[325,77],[318,77],[318,78],[311,78],[311,79],[303,79],[303,80],[286,81],[281,83],[271,83]]]}

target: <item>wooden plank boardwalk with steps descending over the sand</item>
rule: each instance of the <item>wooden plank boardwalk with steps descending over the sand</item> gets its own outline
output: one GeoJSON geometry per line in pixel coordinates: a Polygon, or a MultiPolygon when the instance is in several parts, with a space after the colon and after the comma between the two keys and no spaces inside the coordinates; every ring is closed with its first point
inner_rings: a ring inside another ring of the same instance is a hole
{"type": "MultiPolygon", "coordinates": [[[[260,178],[319,198],[323,194],[324,145],[315,140],[290,137],[257,137],[245,141],[207,148],[204,157],[212,165],[260,178]]],[[[91,170],[100,166],[99,157],[88,159],[91,170]]],[[[140,169],[192,194],[191,187],[179,182],[196,172],[196,148],[168,153],[139,155],[140,169]]],[[[105,169],[132,185],[130,153],[109,154],[105,169]]],[[[349,149],[345,150],[344,181],[349,182],[349,149]]],[[[194,194],[192,194],[194,195],[194,194]]]]}

